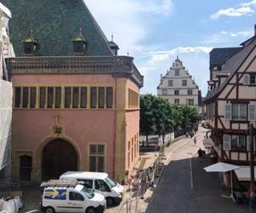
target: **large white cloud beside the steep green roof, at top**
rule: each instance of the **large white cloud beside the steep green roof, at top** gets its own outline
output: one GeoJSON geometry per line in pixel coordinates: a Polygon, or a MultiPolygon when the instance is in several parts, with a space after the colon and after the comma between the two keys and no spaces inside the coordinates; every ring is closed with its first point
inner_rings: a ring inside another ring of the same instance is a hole
{"type": "Polygon", "coordinates": [[[150,33],[148,16],[155,19],[169,17],[172,0],[84,0],[102,31],[119,45],[119,54],[133,55],[138,43],[150,33]],[[107,9],[108,8],[108,9],[107,9]]]}

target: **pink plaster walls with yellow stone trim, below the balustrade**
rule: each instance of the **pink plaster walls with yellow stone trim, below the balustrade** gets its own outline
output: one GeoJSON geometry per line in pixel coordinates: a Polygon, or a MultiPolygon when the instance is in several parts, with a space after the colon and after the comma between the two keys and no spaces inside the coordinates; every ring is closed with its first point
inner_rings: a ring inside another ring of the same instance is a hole
{"type": "Polygon", "coordinates": [[[70,142],[76,150],[79,170],[89,170],[90,144],[104,144],[105,171],[116,180],[125,181],[127,170],[131,171],[139,158],[139,107],[131,110],[127,104],[128,89],[139,94],[137,83],[129,78],[116,78],[112,74],[23,74],[13,75],[12,80],[14,87],[113,87],[113,108],[110,109],[14,108],[14,180],[19,180],[19,157],[26,154],[32,156],[31,180],[41,181],[42,150],[50,141],[58,138],[53,134],[57,117],[58,124],[63,128],[60,138],[70,142]],[[127,144],[134,137],[136,156],[128,167],[127,144]]]}

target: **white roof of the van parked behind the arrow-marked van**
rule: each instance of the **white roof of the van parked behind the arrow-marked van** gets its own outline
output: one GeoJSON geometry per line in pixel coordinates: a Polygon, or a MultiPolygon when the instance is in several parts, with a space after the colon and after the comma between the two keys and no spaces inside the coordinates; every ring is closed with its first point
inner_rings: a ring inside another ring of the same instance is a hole
{"type": "Polygon", "coordinates": [[[67,171],[63,173],[60,178],[71,177],[76,179],[105,179],[108,177],[108,173],[105,172],[93,172],[93,171],[67,171]]]}

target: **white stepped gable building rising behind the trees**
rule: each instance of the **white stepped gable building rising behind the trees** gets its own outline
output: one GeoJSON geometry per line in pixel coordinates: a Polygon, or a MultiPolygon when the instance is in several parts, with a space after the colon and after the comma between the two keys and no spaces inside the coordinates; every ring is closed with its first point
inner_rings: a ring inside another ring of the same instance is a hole
{"type": "Polygon", "coordinates": [[[198,109],[198,86],[178,57],[166,75],[161,75],[157,95],[172,104],[190,105],[198,109]]]}

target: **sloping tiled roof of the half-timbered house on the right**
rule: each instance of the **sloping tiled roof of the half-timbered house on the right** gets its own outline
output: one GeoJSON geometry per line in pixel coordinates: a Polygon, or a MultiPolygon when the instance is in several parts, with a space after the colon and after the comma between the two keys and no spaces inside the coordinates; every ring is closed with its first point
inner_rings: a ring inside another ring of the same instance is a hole
{"type": "Polygon", "coordinates": [[[234,74],[239,69],[241,64],[247,59],[247,56],[251,54],[255,46],[256,46],[256,39],[254,39],[244,49],[241,49],[240,52],[238,52],[236,55],[234,55],[232,58],[230,58],[230,60],[228,60],[224,64],[223,71],[230,72],[230,76],[226,78],[224,83],[222,83],[218,88],[208,93],[205,101],[209,101],[224,89],[225,85],[229,83],[230,79],[234,76],[234,74]]]}

